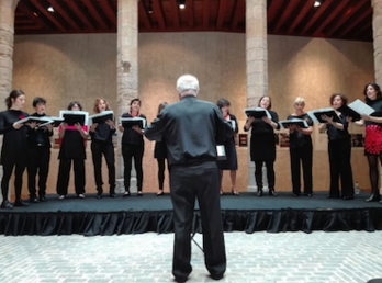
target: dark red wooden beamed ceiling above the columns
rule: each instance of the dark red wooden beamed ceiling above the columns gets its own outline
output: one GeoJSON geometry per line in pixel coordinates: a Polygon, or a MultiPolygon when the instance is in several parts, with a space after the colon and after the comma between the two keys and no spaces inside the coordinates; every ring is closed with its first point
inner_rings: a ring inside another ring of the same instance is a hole
{"type": "MultiPolygon", "coordinates": [[[[245,0],[178,1],[139,0],[139,32],[245,33],[245,0]]],[[[314,2],[268,0],[268,34],[372,42],[370,0],[314,2]]],[[[115,33],[116,10],[117,0],[20,0],[15,34],[115,33]]]]}

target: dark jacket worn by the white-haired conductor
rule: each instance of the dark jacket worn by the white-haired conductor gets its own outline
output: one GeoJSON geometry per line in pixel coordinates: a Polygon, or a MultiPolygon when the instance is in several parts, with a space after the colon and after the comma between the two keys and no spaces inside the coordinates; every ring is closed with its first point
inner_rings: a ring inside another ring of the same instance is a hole
{"type": "Polygon", "coordinates": [[[195,97],[166,106],[145,129],[148,139],[166,143],[170,166],[215,161],[216,140],[224,143],[232,133],[221,110],[195,97]]]}

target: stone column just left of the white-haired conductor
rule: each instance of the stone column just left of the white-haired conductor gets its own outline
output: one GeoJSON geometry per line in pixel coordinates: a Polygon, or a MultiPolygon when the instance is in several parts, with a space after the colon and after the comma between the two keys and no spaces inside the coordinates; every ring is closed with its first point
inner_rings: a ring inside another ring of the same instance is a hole
{"type": "MultiPolygon", "coordinates": [[[[119,118],[130,111],[130,102],[138,97],[138,2],[119,0],[117,8],[117,113],[119,118]]],[[[116,152],[116,192],[124,191],[123,158],[119,133],[116,152]]],[[[131,190],[136,191],[135,170],[132,170],[131,190]]]]}

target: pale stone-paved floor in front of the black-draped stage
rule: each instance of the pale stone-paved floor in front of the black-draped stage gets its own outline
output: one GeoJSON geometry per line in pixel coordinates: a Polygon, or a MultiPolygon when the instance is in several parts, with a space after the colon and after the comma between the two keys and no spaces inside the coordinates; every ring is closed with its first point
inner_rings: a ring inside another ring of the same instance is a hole
{"type": "MultiPolygon", "coordinates": [[[[0,236],[0,282],[173,282],[172,234],[0,236]]],[[[201,244],[201,235],[195,236],[201,244]]],[[[220,282],[367,282],[382,278],[382,231],[226,233],[220,282]]],[[[193,244],[188,282],[216,282],[193,244]]]]}

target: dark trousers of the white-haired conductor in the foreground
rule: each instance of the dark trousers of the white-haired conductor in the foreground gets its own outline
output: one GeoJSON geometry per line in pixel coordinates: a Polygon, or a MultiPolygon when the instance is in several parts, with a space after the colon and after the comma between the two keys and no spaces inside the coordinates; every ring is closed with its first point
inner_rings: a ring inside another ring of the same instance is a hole
{"type": "Polygon", "coordinates": [[[198,199],[205,265],[212,275],[223,275],[226,269],[226,256],[220,201],[220,172],[216,162],[171,166],[170,193],[175,227],[172,274],[176,278],[187,278],[192,271],[191,233],[195,199],[198,199]]]}

